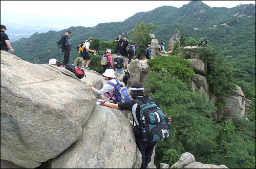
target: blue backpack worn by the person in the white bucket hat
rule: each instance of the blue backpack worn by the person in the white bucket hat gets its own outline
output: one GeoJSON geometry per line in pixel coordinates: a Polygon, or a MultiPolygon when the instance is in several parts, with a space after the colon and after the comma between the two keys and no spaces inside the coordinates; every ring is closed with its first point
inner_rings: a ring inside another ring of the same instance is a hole
{"type": "Polygon", "coordinates": [[[126,101],[130,101],[131,98],[129,96],[129,93],[128,93],[127,89],[119,83],[118,79],[116,79],[116,82],[117,82],[116,85],[112,82],[107,83],[107,84],[109,84],[109,85],[111,85],[115,88],[114,89],[115,102],[122,102],[123,103],[123,102],[126,102],[126,101]]]}

